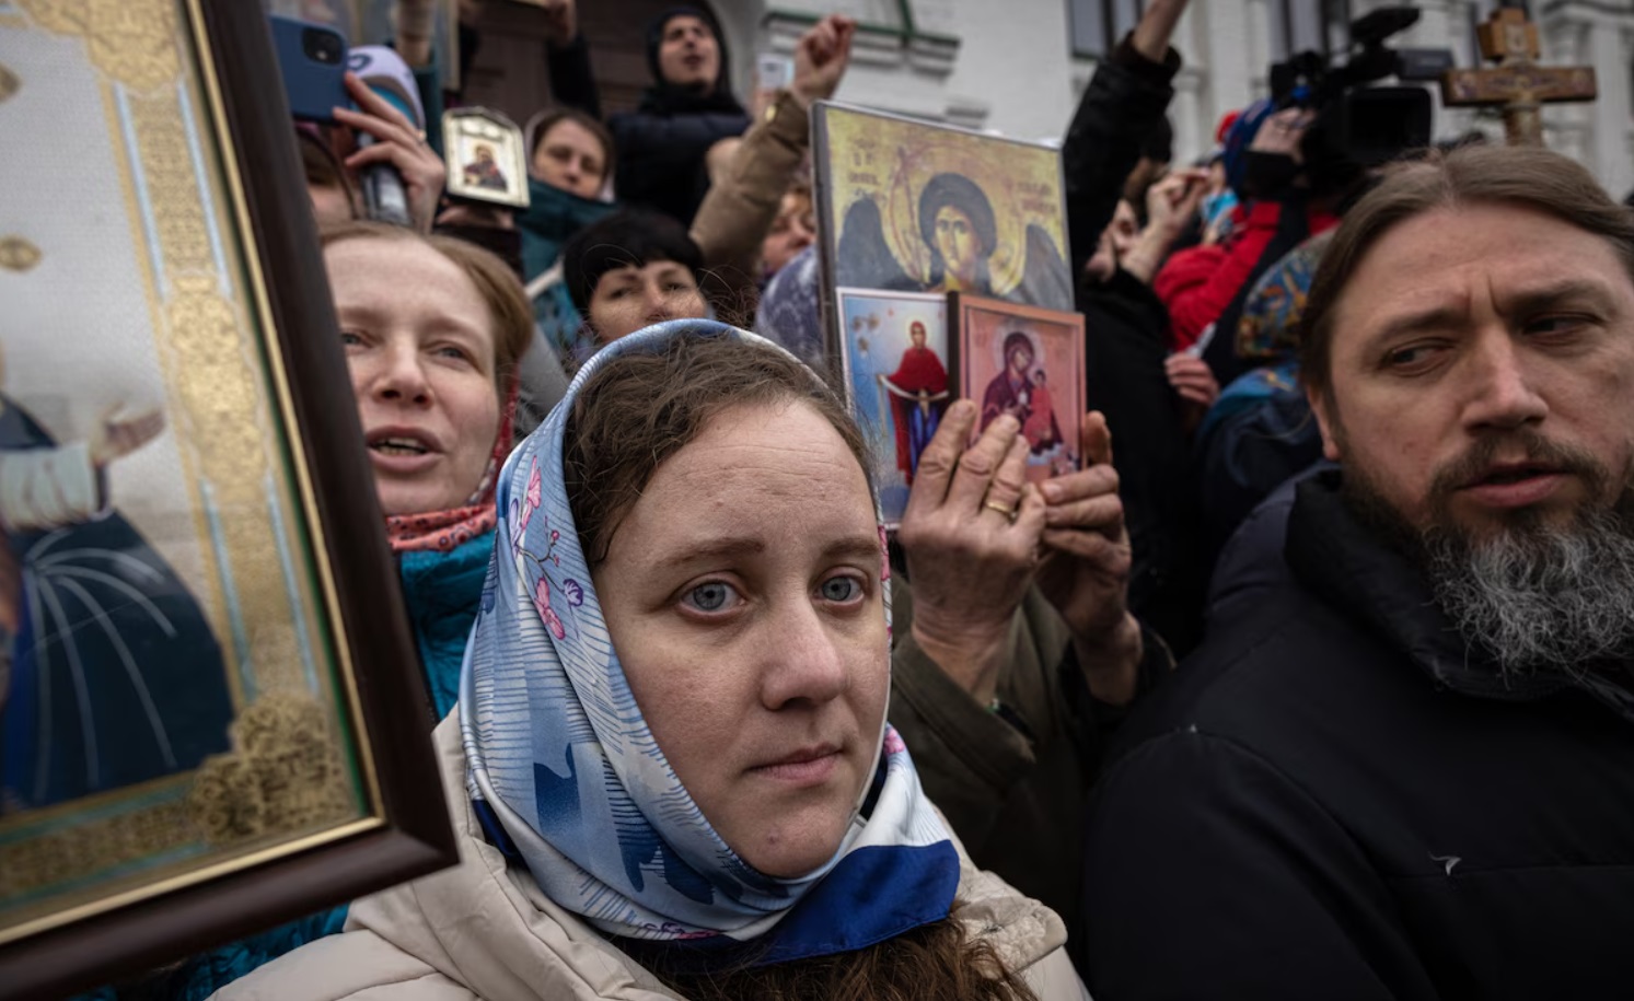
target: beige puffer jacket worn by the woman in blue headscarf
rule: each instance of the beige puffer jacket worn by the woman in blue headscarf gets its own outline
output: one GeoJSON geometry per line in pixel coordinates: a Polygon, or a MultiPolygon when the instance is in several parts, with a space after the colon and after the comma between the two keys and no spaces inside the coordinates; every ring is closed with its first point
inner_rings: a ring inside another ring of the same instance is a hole
{"type": "MultiPolygon", "coordinates": [[[[507,867],[464,797],[458,712],[433,740],[449,794],[459,865],[351,905],[346,931],[310,942],[214,994],[221,1001],[564,1001],[675,998],[577,914],[559,908],[523,867],[507,867]]],[[[958,844],[958,843],[956,843],[958,844]]],[[[1041,1001],[1088,998],[1044,905],[998,877],[962,870],[959,916],[1026,972],[1041,1001]]]]}

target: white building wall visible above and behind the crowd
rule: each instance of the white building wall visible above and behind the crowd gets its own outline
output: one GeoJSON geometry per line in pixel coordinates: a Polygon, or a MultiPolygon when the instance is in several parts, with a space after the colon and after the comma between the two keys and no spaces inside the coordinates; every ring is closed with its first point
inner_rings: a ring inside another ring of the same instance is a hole
{"type": "MultiPolygon", "coordinates": [[[[1175,83],[1170,119],[1175,155],[1188,160],[1214,145],[1214,127],[1227,111],[1266,93],[1271,62],[1273,0],[1193,0],[1175,33],[1185,70],[1175,83]]],[[[1018,139],[1059,139],[1093,60],[1072,54],[1067,0],[909,0],[920,38],[904,42],[864,31],[851,70],[837,95],[1018,139]],[[926,34],[936,38],[925,38],[926,34]],[[941,38],[946,36],[946,38],[941,38]]],[[[1391,0],[1351,0],[1359,16],[1391,0]]],[[[1422,0],[1420,20],[1394,39],[1413,47],[1449,47],[1459,65],[1474,65],[1471,10],[1493,0],[1422,0]]],[[[900,0],[716,0],[734,46],[740,93],[748,91],[755,51],[792,52],[804,29],[799,16],[843,11],[864,23],[902,29],[900,0]]],[[[1583,162],[1621,198],[1634,188],[1634,10],[1601,0],[1533,3],[1541,18],[1542,60],[1593,65],[1600,100],[1547,106],[1544,129],[1552,149],[1583,162]]],[[[1440,106],[1436,137],[1479,129],[1502,137],[1495,114],[1440,106]]]]}

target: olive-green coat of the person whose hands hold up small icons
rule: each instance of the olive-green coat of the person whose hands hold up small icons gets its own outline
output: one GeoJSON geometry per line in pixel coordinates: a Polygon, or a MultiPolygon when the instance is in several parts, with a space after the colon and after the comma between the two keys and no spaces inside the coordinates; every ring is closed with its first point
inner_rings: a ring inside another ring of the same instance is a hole
{"type": "MultiPolygon", "coordinates": [[[[1088,790],[1126,710],[1090,694],[1067,624],[1036,589],[1011,622],[998,705],[979,704],[913,640],[912,591],[892,585],[891,725],[925,795],[977,865],[1062,916],[1077,962],[1088,790]]],[[[1173,666],[1152,632],[1142,642],[1141,694],[1173,666]]]]}

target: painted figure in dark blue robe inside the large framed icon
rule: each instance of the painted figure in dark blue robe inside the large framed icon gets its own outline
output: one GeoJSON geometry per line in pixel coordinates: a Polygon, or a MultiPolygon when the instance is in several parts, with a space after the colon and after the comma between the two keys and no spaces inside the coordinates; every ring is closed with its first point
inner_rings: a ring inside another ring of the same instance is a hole
{"type": "Polygon", "coordinates": [[[221,647],[165,558],[108,503],[108,462],[163,413],[59,446],[0,395],[0,813],[127,787],[227,750],[221,647]]]}

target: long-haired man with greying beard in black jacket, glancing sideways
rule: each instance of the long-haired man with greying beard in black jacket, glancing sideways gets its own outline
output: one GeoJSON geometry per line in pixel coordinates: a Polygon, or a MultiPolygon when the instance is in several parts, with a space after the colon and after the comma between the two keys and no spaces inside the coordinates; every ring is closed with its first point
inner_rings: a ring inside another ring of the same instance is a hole
{"type": "Polygon", "coordinates": [[[1634,216],[1544,150],[1399,168],[1304,338],[1340,469],[1101,779],[1090,988],[1626,998],[1634,216]]]}

